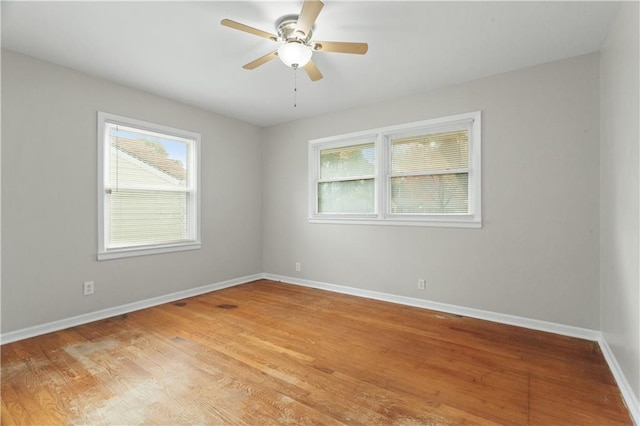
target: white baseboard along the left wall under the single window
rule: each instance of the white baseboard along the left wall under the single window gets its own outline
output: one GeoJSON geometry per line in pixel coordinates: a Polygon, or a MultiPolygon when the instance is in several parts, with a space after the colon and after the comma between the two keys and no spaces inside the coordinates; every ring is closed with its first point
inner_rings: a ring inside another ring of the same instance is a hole
{"type": "Polygon", "coordinates": [[[40,336],[42,334],[51,333],[53,331],[63,330],[65,328],[75,327],[77,325],[87,324],[105,318],[111,318],[117,315],[127,314],[129,312],[139,311],[140,309],[150,308],[152,306],[162,305],[163,303],[175,302],[176,300],[186,299],[188,297],[198,296],[200,294],[209,293],[215,290],[221,290],[227,287],[233,287],[239,284],[248,283],[264,278],[263,274],[248,275],[241,278],[222,281],[215,284],[209,284],[202,287],[192,288],[189,290],[178,291],[163,296],[152,297],[151,299],[140,300],[138,302],[127,303],[126,305],[115,306],[113,308],[102,309],[100,311],[90,312],[75,317],[65,318],[46,324],[36,325],[33,327],[23,328],[21,330],[11,331],[9,333],[0,334],[0,344],[11,343],[18,340],[28,339],[30,337],[40,336]]]}

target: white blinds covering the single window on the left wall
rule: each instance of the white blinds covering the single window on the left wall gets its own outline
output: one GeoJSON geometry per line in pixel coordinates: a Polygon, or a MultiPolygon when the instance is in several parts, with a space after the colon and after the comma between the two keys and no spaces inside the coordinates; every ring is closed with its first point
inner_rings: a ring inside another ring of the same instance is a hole
{"type": "Polygon", "coordinates": [[[107,124],[107,248],[194,240],[193,142],[107,124]]]}

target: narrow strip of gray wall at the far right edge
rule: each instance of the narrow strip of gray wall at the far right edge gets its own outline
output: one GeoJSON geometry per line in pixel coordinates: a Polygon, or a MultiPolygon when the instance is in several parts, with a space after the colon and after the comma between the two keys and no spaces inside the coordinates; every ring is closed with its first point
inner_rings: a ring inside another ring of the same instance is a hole
{"type": "Polygon", "coordinates": [[[601,329],[640,399],[638,3],[623,3],[602,49],[601,329]]]}

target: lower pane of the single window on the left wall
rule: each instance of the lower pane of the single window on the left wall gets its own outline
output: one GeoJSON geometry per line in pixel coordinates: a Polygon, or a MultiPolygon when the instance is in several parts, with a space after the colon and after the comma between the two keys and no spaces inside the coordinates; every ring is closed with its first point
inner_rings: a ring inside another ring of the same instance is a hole
{"type": "Polygon", "coordinates": [[[113,190],[109,194],[110,247],[188,240],[189,196],[182,191],[113,190]]]}

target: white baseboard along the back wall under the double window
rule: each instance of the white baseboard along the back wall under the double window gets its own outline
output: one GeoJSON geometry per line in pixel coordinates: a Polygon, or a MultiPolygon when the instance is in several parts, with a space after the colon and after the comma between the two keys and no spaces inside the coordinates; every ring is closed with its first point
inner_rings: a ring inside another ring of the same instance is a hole
{"type": "Polygon", "coordinates": [[[466,308],[463,306],[449,305],[447,303],[433,302],[430,300],[417,299],[407,296],[396,296],[389,293],[381,293],[371,290],[363,290],[354,287],[346,287],[335,284],[328,284],[318,281],[302,280],[294,277],[265,274],[266,279],[283,281],[304,287],[312,287],[321,290],[333,291],[336,293],[349,294],[352,296],[366,297],[368,299],[381,300],[384,302],[399,303],[401,305],[415,306],[418,308],[431,309],[434,311],[447,312],[450,314],[462,315],[465,317],[477,318],[487,321],[499,322],[502,324],[515,325],[518,327],[530,328],[533,330],[547,331],[549,333],[561,334],[564,336],[577,337],[580,339],[598,341],[601,333],[587,328],[574,327],[570,325],[557,324],[553,322],[536,319],[518,317],[515,315],[500,314],[496,312],[483,311],[481,309],[466,308]]]}

